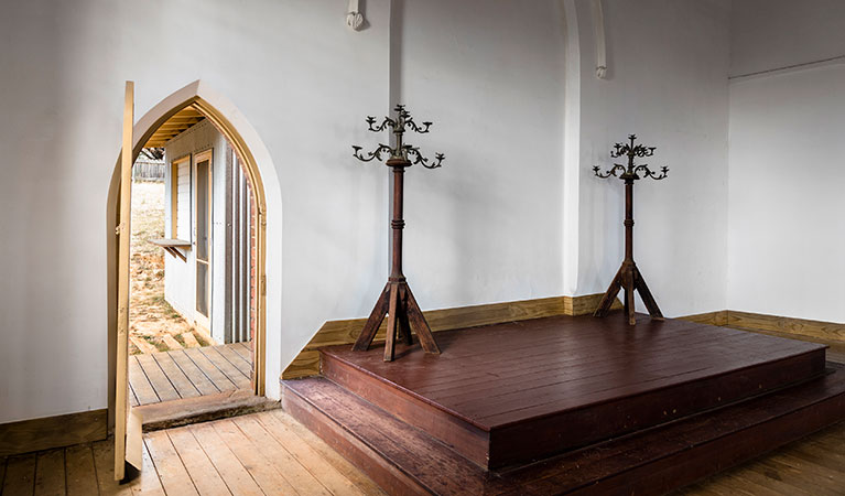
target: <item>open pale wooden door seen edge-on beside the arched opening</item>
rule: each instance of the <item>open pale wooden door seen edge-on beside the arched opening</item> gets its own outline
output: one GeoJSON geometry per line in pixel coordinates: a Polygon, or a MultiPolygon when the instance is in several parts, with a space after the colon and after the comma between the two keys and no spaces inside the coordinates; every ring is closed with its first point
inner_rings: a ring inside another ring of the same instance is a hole
{"type": "Polygon", "coordinates": [[[129,406],[129,238],[132,234],[132,126],[134,83],[127,82],[123,101],[123,144],[120,152],[120,201],[118,204],[118,328],[117,390],[115,391],[115,479],[126,477],[127,464],[141,470],[141,419],[129,406]]]}

